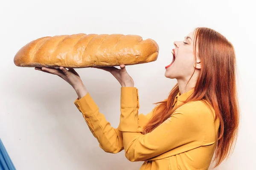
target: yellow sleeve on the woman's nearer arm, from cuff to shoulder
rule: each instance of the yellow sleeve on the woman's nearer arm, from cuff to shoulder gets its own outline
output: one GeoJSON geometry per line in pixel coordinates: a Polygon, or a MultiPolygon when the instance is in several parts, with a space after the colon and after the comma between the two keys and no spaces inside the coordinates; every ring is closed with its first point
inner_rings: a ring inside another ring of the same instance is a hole
{"type": "Polygon", "coordinates": [[[185,113],[181,109],[150,133],[142,134],[138,124],[138,89],[121,88],[121,115],[125,156],[130,161],[145,161],[184,144],[201,146],[204,138],[204,121],[198,113],[185,113]]]}

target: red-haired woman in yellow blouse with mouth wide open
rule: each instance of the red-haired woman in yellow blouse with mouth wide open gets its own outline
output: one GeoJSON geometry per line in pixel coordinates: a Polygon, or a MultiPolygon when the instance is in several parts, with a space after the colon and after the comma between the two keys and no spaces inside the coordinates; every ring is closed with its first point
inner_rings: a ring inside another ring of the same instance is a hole
{"type": "Polygon", "coordinates": [[[138,114],[138,90],[125,65],[99,67],[121,84],[117,128],[99,112],[73,68],[35,69],[56,74],[75,89],[74,103],[105,152],[124,149],[128,160],[144,161],[141,170],[207,170],[215,153],[217,167],[233,150],[239,126],[233,45],[210,28],[195,28],[174,45],[165,77],[177,84],[147,115],[138,114]]]}

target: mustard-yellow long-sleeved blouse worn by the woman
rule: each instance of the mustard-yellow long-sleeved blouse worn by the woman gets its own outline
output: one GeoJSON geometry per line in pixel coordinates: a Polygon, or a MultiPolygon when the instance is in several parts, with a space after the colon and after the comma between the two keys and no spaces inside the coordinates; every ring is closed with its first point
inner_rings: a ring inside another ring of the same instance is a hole
{"type": "MultiPolygon", "coordinates": [[[[175,97],[178,106],[194,89],[175,97]]],[[[188,102],[172,116],[145,135],[142,129],[154,109],[144,115],[140,108],[138,89],[121,87],[120,122],[117,128],[105,119],[87,93],[74,102],[98,140],[99,147],[108,153],[125,150],[130,161],[144,161],[140,170],[207,170],[216,147],[219,119],[202,101],[188,102]]]]}

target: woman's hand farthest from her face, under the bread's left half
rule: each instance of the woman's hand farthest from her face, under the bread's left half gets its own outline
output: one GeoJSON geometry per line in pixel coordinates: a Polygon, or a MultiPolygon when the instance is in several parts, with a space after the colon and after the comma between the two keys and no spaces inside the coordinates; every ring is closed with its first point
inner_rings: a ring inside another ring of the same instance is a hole
{"type": "Polygon", "coordinates": [[[78,87],[83,85],[83,82],[79,76],[79,74],[74,70],[74,68],[69,68],[68,70],[64,67],[60,68],[46,68],[46,67],[35,67],[35,70],[43,71],[49,74],[55,74],[66,82],[68,82],[75,90],[78,87]]]}

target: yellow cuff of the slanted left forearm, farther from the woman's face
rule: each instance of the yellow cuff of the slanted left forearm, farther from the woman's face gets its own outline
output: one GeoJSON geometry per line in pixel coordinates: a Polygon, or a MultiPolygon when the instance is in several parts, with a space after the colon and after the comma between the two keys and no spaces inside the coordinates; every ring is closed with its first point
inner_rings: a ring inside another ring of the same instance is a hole
{"type": "Polygon", "coordinates": [[[85,117],[88,117],[99,110],[99,107],[93,101],[89,92],[82,98],[77,98],[74,102],[78,110],[84,114],[85,117]]]}

